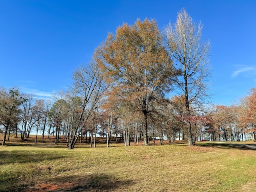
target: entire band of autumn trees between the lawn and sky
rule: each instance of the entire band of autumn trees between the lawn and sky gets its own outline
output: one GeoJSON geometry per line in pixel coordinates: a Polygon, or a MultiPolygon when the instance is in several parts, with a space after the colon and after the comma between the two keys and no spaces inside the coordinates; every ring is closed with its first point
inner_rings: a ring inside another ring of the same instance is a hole
{"type": "Polygon", "coordinates": [[[73,73],[70,89],[56,94],[53,103],[1,88],[2,145],[8,133],[19,132],[24,140],[32,129],[36,136],[42,132],[42,142],[44,135],[54,134],[55,144],[63,136],[69,149],[87,136],[91,146],[94,136],[96,147],[96,134],[106,136],[107,146],[111,136],[123,138],[125,146],[141,136],[144,145],[156,137],[182,138],[189,145],[206,138],[243,140],[246,131],[255,138],[255,91],[236,107],[204,107],[210,43],[201,40],[201,31],[185,9],[163,32],[155,20],[138,19],[108,34],[92,62],[73,73]],[[168,98],[174,91],[178,96],[168,98]]]}

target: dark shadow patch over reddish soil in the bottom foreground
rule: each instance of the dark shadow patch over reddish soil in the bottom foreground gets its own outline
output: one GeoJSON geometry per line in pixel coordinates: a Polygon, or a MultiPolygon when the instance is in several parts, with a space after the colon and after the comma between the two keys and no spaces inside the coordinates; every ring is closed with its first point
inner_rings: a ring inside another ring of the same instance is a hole
{"type": "MultiPolygon", "coordinates": [[[[134,186],[133,180],[120,180],[109,174],[84,173],[83,175],[69,175],[41,181],[34,186],[20,187],[19,191],[26,192],[104,192],[104,191],[123,191],[129,186],[134,186]]],[[[11,191],[11,190],[10,190],[11,191]]]]}

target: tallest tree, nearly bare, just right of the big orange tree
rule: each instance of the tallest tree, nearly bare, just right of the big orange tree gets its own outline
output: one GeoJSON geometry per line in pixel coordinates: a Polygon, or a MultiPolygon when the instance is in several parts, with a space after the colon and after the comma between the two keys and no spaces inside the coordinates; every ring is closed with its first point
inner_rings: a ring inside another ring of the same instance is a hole
{"type": "Polygon", "coordinates": [[[176,23],[166,27],[166,43],[174,59],[176,69],[182,70],[182,76],[176,84],[185,95],[188,126],[188,145],[194,145],[190,122],[190,104],[202,101],[208,96],[207,86],[210,77],[208,53],[210,42],[202,42],[202,25],[193,23],[185,9],[178,12],[176,23]]]}

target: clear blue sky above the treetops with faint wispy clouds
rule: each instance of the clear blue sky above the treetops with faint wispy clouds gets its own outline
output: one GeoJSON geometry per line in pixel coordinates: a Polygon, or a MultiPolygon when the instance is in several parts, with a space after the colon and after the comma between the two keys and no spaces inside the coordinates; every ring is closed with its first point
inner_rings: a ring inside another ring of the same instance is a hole
{"type": "Polygon", "coordinates": [[[163,29],[181,8],[211,41],[214,104],[230,105],[256,87],[255,0],[0,0],[0,86],[38,98],[66,90],[108,32],[137,18],[163,29]]]}

